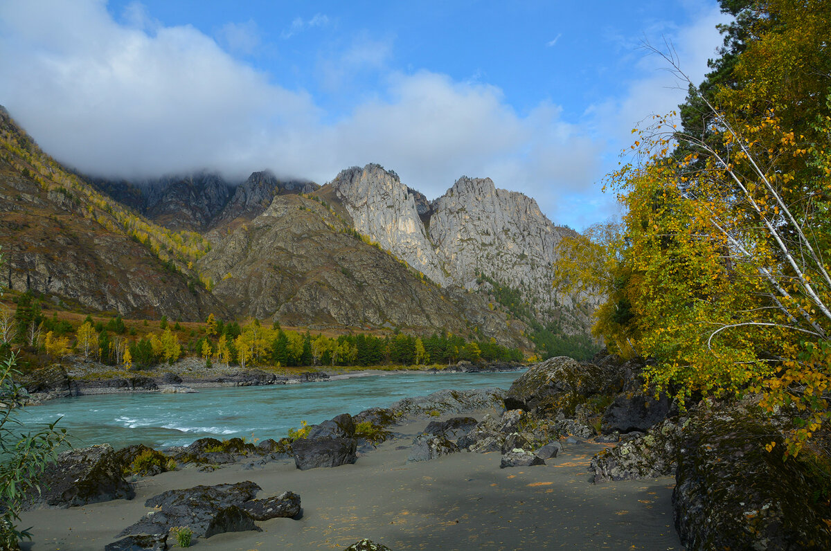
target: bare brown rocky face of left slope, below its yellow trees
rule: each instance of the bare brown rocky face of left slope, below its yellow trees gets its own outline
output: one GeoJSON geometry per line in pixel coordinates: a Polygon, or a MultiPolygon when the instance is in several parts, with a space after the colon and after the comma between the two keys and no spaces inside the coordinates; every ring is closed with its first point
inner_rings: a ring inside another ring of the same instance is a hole
{"type": "MultiPolygon", "coordinates": [[[[0,126],[0,145],[27,143],[2,112],[0,126]]],[[[38,182],[33,169],[22,174],[17,165],[24,161],[14,150],[4,147],[0,154],[0,275],[7,288],[42,293],[66,307],[128,317],[195,321],[210,312],[227,312],[203,288],[189,288],[182,273],[165,268],[111,219],[90,216],[85,195],[42,176],[38,182]]],[[[61,173],[52,176],[60,179],[61,173]]]]}

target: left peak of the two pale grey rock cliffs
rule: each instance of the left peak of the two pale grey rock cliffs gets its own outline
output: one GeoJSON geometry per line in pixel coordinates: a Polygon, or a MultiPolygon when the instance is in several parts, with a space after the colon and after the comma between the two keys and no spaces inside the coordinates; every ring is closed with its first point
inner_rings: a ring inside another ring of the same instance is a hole
{"type": "Polygon", "coordinates": [[[417,195],[401,184],[397,175],[380,165],[366,165],[362,169],[342,170],[330,185],[352,216],[358,232],[435,283],[448,283],[421,222],[417,195]]]}

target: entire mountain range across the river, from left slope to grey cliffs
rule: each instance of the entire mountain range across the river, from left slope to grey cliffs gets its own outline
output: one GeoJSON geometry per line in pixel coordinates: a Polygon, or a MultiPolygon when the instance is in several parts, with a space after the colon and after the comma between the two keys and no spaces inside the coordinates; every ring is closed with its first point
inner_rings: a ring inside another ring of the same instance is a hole
{"type": "Polygon", "coordinates": [[[450,331],[525,349],[552,322],[587,331],[591,304],[550,287],[566,230],[489,179],[433,201],[379,165],[323,187],[268,171],[102,180],[65,170],[5,111],[0,130],[12,289],[125,316],[450,331]]]}

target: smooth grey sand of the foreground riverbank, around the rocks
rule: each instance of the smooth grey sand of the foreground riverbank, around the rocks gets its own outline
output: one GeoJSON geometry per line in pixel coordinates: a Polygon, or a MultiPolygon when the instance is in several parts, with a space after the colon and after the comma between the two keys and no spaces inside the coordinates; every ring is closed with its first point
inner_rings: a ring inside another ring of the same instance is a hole
{"type": "MultiPolygon", "coordinates": [[[[230,465],[140,479],[132,500],[22,514],[34,539],[23,549],[98,549],[151,509],[165,490],[253,480],[259,498],[300,494],[301,519],[258,522],[262,532],[194,540],[194,549],[344,549],[361,538],[401,549],[675,549],[669,477],[593,485],[587,471],[602,445],[564,445],[548,465],[499,469],[499,453],[466,451],[406,465],[412,437],[428,421],[395,427],[401,438],[359,455],[355,465],[297,470],[293,461],[253,470],[230,465]]],[[[172,544],[172,542],[171,542],[172,544]]]]}

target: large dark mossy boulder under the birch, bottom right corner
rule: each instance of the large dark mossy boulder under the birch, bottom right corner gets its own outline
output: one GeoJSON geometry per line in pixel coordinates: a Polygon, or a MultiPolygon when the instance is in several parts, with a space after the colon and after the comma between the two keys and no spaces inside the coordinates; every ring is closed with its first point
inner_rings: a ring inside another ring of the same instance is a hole
{"type": "Polygon", "coordinates": [[[686,549],[831,549],[828,503],[812,499],[828,482],[801,459],[809,451],[784,460],[768,421],[735,406],[703,409],[685,431],[672,492],[686,549]]]}

